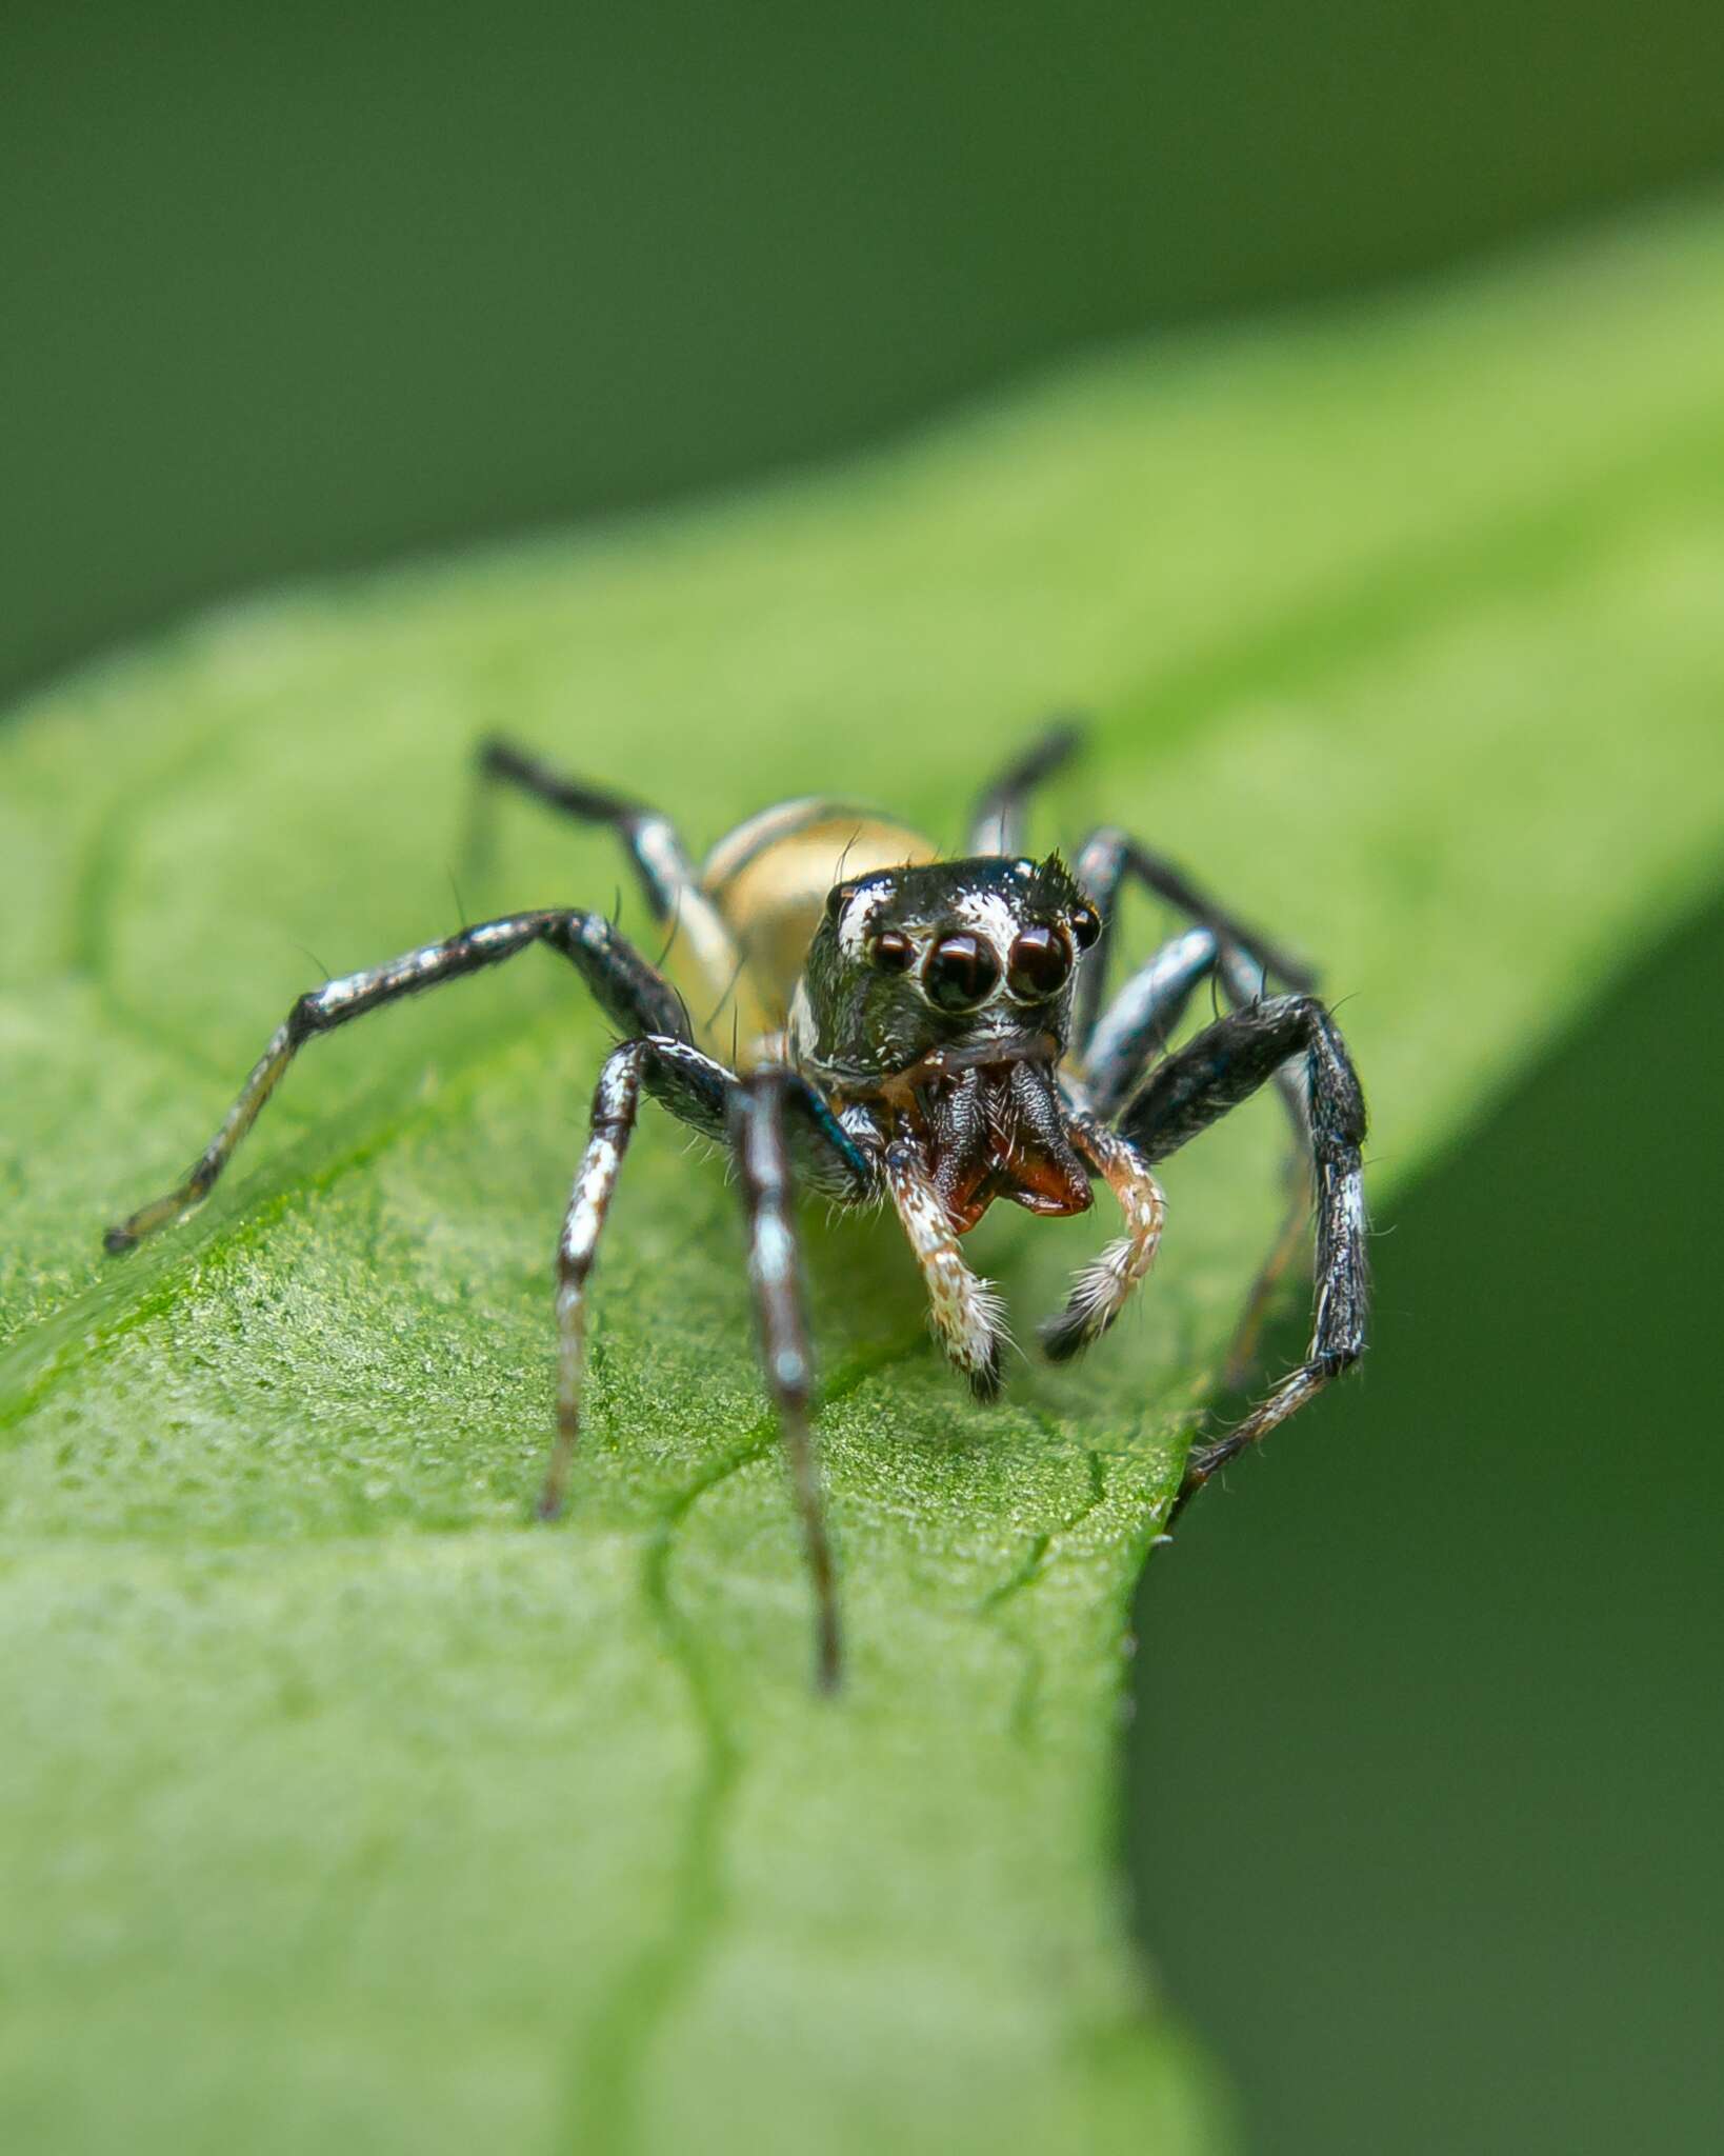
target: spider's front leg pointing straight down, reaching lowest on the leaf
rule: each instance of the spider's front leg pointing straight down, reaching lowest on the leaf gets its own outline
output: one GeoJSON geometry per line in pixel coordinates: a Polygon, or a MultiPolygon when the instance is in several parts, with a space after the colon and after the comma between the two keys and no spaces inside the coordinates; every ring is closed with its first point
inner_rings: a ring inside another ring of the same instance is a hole
{"type": "Polygon", "coordinates": [[[815,1367],[808,1350],[808,1319],[793,1201],[787,1110],[797,1080],[784,1069],[759,1069],[731,1093],[731,1145],[737,1158],[741,1199],[748,1214],[748,1283],[754,1291],[754,1324],[761,1365],[778,1414],[784,1457],[791,1468],[808,1578],[815,1589],[817,1673],[823,1692],[838,1684],[838,1587],[832,1544],[825,1535],[819,1466],[808,1406],[815,1367]]]}

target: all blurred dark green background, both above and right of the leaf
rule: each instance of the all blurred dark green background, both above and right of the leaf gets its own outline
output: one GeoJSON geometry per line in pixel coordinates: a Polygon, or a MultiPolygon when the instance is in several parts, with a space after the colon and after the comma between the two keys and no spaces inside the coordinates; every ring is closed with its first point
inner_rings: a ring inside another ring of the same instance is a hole
{"type": "MultiPolygon", "coordinates": [[[[1715,0],[95,0],[0,82],[0,688],[1724,170],[1715,0]]],[[[1384,1222],[1366,1380],[1149,1583],[1142,1930],[1265,2150],[1715,2145],[1720,957],[1384,1222]]]]}

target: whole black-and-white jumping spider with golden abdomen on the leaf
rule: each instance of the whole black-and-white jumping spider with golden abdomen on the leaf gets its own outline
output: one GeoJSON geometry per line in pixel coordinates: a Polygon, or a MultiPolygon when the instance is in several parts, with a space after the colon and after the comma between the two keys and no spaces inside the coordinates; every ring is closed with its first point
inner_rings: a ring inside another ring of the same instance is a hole
{"type": "Polygon", "coordinates": [[[737,1162],[761,1360],[802,1511],[819,1682],[832,1686],[838,1602],[810,1436],[795,1186],[845,1205],[892,1201],[933,1328],[976,1397],[991,1399],[1002,1317],[959,1238],[993,1199],[1075,1214],[1101,1179],[1125,1216],[1125,1233],[1075,1276],[1041,1330],[1045,1352],[1065,1360],[1112,1326],[1155,1259],[1155,1162],[1276,1080],[1297,1136],[1299,1199],[1259,1274],[1241,1343],[1315,1199],[1310,1350],[1235,1429],[1192,1453],[1185,1503],[1364,1348],[1364,1100],[1312,977],[1157,854],[1118,830],[1088,839],[1071,869],[1058,854],[1024,854],[1030,793],[1075,742],[1075,729],[1052,729],[987,787],[963,860],[942,860],[916,832],[873,813],[795,800],[731,832],[698,871],[666,817],[487,742],[478,752],[487,780],[616,830],[705,994],[700,1007],[715,1000],[713,1020],[694,1024],[679,990],[603,914],[554,908],[461,929],[300,996],[183,1181],[108,1229],[108,1248],[129,1250],[209,1192],[315,1033],[547,944],[573,962],[625,1039],[599,1074],[556,1250],[556,1438],[539,1509],[550,1518],[562,1505],[580,1429],[586,1279],[644,1093],[737,1162]],[[1190,927],[1103,1005],[1127,880],[1172,903],[1190,927]],[[1170,1050],[1205,981],[1228,1011],[1170,1050]],[[718,1056],[720,1024],[728,1063],[718,1056]]]}

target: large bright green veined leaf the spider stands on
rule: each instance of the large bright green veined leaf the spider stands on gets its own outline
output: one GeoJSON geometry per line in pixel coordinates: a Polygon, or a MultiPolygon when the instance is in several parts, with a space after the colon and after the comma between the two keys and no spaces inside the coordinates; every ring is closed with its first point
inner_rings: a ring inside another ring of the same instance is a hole
{"type": "MultiPolygon", "coordinates": [[[[812,789],[955,839],[1073,703],[1095,755],[1049,834],[1138,826],[1321,955],[1381,1205],[1715,875],[1720,621],[1724,222],[1692,213],[1073,367],[739,502],[235,608],[22,711],[6,2145],[1213,2145],[1127,1940],[1114,1740],[1131,1585],[1276,1220],[1271,1106],[1170,1166],[1138,1317],[989,1412],[888,1225],[810,1214],[836,1703],[735,1197],[662,1121],[573,1514],[530,1524],[606,1039],[556,964],[315,1044],[203,1214],[125,1263],[97,1235],[323,972],[610,903],[606,843],[526,811],[457,899],[481,731],[698,841],[812,789]]],[[[1599,1173],[1601,1235],[1610,1203],[1599,1173]]],[[[978,1231],[1019,1335],[1097,1233],[978,1231]]],[[[1433,1488],[1429,1531],[1470,1503],[1433,1488]]]]}

